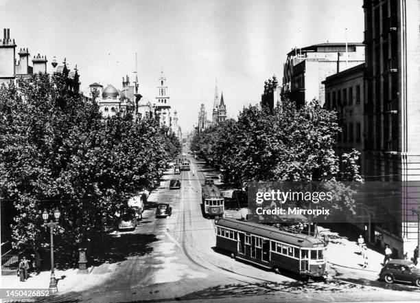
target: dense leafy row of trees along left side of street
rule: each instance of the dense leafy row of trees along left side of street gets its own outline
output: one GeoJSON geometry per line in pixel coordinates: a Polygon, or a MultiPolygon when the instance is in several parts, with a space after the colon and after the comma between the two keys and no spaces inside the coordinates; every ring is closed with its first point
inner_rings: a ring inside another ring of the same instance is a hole
{"type": "Polygon", "coordinates": [[[13,245],[28,252],[45,246],[42,212],[58,207],[58,260],[69,260],[152,186],[180,142],[154,119],[134,122],[134,107],[104,119],[97,102],[69,91],[61,75],[18,85],[0,87],[0,189],[16,209],[13,245]]]}

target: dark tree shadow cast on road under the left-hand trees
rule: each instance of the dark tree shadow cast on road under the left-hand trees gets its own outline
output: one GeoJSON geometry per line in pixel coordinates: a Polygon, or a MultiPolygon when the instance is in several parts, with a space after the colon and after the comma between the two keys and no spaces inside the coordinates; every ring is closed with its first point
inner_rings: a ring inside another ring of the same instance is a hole
{"type": "Polygon", "coordinates": [[[91,265],[105,262],[115,263],[132,256],[144,256],[153,251],[151,243],[158,239],[154,234],[121,234],[120,237],[106,236],[104,245],[92,249],[91,265]]]}

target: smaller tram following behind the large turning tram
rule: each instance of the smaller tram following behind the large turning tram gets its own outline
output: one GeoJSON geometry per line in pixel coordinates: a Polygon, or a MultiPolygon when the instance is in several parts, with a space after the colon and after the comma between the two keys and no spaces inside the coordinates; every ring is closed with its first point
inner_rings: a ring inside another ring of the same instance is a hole
{"type": "Polygon", "coordinates": [[[202,212],[204,216],[222,216],[224,213],[224,198],[222,192],[214,184],[201,187],[202,212]]]}

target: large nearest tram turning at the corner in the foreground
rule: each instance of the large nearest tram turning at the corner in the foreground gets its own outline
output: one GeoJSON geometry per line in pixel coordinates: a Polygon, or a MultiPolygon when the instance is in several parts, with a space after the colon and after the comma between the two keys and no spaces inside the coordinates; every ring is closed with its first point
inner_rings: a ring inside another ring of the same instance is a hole
{"type": "Polygon", "coordinates": [[[215,226],[216,247],[237,259],[275,271],[286,269],[305,280],[327,277],[327,247],[319,238],[233,218],[221,218],[215,226]]]}

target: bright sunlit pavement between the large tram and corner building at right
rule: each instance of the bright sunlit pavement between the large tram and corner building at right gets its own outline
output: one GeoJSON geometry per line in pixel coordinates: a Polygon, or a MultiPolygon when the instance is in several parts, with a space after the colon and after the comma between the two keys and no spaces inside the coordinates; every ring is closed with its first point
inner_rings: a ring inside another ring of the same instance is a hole
{"type": "Polygon", "coordinates": [[[380,273],[382,269],[381,263],[384,262],[384,255],[367,249],[368,264],[367,268],[363,267],[363,257],[359,254],[359,246],[354,241],[350,241],[345,237],[340,236],[336,232],[318,226],[318,232],[321,237],[324,234],[329,236],[329,243],[327,249],[327,261],[331,265],[340,267],[347,267],[350,269],[358,269],[360,271],[369,271],[380,273]]]}

